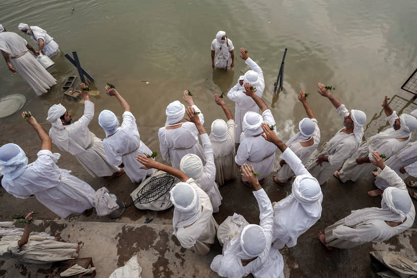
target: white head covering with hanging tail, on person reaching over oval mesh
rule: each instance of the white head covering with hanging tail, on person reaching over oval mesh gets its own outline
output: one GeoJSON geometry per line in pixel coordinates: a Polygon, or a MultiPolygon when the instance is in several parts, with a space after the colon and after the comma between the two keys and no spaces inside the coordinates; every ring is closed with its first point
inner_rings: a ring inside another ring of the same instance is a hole
{"type": "Polygon", "coordinates": [[[193,224],[201,215],[200,196],[187,182],[179,182],[170,191],[170,200],[174,205],[172,225],[174,235],[177,228],[193,224]]]}

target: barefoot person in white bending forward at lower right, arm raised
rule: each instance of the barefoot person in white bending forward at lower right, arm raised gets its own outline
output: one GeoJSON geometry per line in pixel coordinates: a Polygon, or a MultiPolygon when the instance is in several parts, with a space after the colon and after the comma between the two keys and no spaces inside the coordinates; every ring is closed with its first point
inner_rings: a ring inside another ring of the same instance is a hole
{"type": "Polygon", "coordinates": [[[378,152],[372,152],[372,163],[382,171],[381,178],[389,183],[384,190],[381,208],[367,207],[352,213],[318,233],[318,239],[328,249],[353,248],[367,242],[381,242],[412,226],[414,204],[404,181],[384,164],[378,152]]]}

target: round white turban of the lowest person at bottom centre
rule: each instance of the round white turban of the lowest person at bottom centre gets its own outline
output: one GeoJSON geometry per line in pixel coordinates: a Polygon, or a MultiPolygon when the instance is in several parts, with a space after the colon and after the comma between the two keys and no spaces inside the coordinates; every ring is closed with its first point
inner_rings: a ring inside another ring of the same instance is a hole
{"type": "Polygon", "coordinates": [[[240,247],[238,256],[243,260],[258,257],[266,248],[264,229],[255,224],[249,224],[240,233],[240,247]]]}

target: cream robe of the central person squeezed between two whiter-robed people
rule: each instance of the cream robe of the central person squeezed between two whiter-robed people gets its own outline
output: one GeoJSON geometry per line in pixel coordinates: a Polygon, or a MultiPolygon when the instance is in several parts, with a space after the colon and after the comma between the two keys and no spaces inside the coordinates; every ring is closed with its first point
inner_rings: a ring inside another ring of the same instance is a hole
{"type": "Polygon", "coordinates": [[[227,121],[227,138],[223,142],[212,141],[214,164],[216,165],[216,181],[219,186],[225,180],[235,179],[237,167],[235,163],[235,121],[227,121]]]}

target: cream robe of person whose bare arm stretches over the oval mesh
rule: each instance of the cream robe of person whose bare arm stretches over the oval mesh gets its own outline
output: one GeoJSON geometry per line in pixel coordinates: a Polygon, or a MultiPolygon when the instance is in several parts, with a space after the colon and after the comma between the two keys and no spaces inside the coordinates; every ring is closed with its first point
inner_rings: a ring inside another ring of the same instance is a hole
{"type": "Polygon", "coordinates": [[[194,179],[190,178],[187,183],[192,186],[200,197],[203,206],[200,218],[191,226],[179,227],[176,230],[176,237],[184,248],[193,248],[197,254],[205,255],[210,252],[210,247],[216,238],[216,229],[219,226],[213,218],[213,207],[207,194],[197,186],[194,179]]]}

